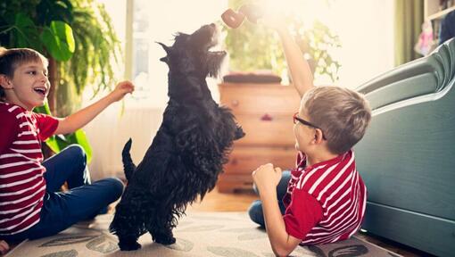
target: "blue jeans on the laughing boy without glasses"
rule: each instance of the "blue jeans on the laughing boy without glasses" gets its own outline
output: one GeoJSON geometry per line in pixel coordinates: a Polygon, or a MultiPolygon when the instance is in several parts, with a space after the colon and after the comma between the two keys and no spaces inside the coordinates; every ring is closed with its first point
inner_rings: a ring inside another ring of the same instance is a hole
{"type": "Polygon", "coordinates": [[[106,211],[107,205],[120,198],[123,183],[104,178],[90,183],[87,156],[79,145],[70,145],[43,162],[46,192],[39,222],[33,227],[3,239],[19,241],[53,236],[80,220],[106,211]],[[64,182],[68,192],[59,192],[64,182]]]}

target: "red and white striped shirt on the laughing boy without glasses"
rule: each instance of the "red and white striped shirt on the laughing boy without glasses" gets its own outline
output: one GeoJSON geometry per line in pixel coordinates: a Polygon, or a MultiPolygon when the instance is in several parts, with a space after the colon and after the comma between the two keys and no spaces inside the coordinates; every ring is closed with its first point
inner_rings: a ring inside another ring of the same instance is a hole
{"type": "Polygon", "coordinates": [[[12,235],[39,221],[45,195],[41,142],[58,120],[0,102],[0,235],[12,235]]]}

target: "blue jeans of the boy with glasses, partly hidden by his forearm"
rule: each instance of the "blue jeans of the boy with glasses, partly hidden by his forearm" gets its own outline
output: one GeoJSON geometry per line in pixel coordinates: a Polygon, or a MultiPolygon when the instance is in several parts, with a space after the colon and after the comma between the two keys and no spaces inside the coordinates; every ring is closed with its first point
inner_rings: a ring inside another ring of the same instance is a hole
{"type": "MultiPolygon", "coordinates": [[[[285,170],[281,174],[281,180],[277,186],[277,201],[279,206],[279,211],[281,214],[285,214],[285,204],[283,203],[283,197],[287,191],[287,183],[291,179],[291,171],[285,170]]],[[[256,187],[253,187],[256,194],[259,194],[256,187]]],[[[256,200],[252,202],[250,208],[248,209],[248,215],[250,215],[250,219],[255,223],[259,224],[262,228],[265,228],[265,221],[264,221],[264,212],[262,211],[262,202],[261,200],[256,200]]]]}

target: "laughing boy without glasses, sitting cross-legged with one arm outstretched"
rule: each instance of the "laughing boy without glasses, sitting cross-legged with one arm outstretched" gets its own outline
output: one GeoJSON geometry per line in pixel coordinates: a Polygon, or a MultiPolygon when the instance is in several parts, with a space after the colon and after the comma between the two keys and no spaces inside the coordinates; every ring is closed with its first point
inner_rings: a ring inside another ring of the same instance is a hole
{"type": "MultiPolygon", "coordinates": [[[[70,145],[43,162],[41,143],[52,135],[82,128],[131,93],[134,86],[120,82],[109,95],[63,119],[37,114],[33,109],[45,104],[49,92],[47,64],[35,50],[0,47],[1,239],[57,234],[79,220],[94,217],[123,191],[118,178],[90,183],[86,155],[79,145],[70,145]],[[69,192],[59,192],[65,181],[69,192]]],[[[2,242],[2,252],[5,248],[2,242]]]]}

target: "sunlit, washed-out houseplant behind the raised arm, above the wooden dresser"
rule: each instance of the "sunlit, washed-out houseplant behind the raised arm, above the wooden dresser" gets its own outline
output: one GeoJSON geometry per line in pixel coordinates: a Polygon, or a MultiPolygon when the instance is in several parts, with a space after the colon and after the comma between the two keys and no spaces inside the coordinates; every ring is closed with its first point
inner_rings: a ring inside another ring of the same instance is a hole
{"type": "MultiPolygon", "coordinates": [[[[236,10],[251,2],[229,0],[229,8],[236,10]]],[[[332,81],[338,79],[340,63],[328,49],[340,47],[339,38],[320,21],[314,21],[309,27],[299,17],[287,15],[285,18],[295,41],[310,62],[315,78],[328,76],[332,81]]],[[[224,31],[227,33],[225,42],[231,70],[272,70],[280,76],[287,74],[279,38],[271,29],[245,21],[238,29],[224,27],[224,31]]]]}

